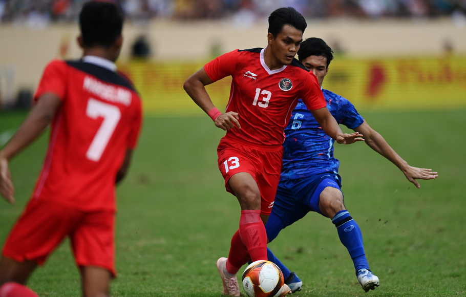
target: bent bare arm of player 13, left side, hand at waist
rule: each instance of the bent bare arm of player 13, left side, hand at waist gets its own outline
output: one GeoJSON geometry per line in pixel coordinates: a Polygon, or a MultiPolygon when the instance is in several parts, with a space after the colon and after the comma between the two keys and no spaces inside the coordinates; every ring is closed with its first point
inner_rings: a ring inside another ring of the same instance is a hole
{"type": "MultiPolygon", "coordinates": [[[[205,90],[207,84],[213,83],[214,81],[205,72],[204,68],[199,69],[193,75],[189,76],[183,84],[183,88],[186,93],[193,99],[193,101],[206,113],[215,109],[215,105],[209,97],[209,94],[205,90]]],[[[210,114],[209,114],[210,115],[210,114]]],[[[241,128],[238,122],[239,115],[236,112],[221,113],[220,115],[213,118],[215,125],[223,130],[230,130],[237,126],[241,128]]]]}

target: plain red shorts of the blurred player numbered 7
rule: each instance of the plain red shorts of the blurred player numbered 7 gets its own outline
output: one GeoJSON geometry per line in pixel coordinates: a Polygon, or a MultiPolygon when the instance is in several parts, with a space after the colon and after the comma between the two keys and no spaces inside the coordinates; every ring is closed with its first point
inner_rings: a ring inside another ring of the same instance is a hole
{"type": "Polygon", "coordinates": [[[83,212],[68,206],[32,199],[13,226],[3,256],[43,265],[52,251],[69,237],[78,266],[115,270],[114,211],[83,212]]]}

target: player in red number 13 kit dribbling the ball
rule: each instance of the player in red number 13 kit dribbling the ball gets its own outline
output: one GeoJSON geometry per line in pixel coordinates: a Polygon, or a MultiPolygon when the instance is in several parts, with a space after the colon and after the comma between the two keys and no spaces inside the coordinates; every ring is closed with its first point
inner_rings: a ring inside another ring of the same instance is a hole
{"type": "MultiPolygon", "coordinates": [[[[228,192],[241,206],[239,230],[228,258],[217,268],[223,293],[239,296],[236,274],[249,260],[267,260],[264,224],[270,214],[282,167],[283,131],[298,98],[303,98],[325,133],[338,143],[364,140],[344,134],[326,108],[315,75],[294,56],[306,29],[304,17],[291,7],[269,16],[267,47],[235,50],[208,62],[184,83],[187,94],[226,132],[218,146],[218,165],[228,192]],[[232,76],[226,112],[210,100],[205,86],[232,76]]],[[[289,292],[284,288],[282,295],[289,292]]]]}

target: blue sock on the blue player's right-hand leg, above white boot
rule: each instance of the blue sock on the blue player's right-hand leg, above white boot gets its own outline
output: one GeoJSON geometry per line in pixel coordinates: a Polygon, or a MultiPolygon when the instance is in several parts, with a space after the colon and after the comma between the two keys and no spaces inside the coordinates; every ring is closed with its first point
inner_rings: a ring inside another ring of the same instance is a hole
{"type": "Polygon", "coordinates": [[[364,252],[361,229],[359,229],[359,226],[350,216],[348,210],[338,211],[332,219],[332,223],[338,231],[340,241],[348,249],[356,271],[363,268],[369,269],[369,264],[367,263],[366,254],[364,252]]]}

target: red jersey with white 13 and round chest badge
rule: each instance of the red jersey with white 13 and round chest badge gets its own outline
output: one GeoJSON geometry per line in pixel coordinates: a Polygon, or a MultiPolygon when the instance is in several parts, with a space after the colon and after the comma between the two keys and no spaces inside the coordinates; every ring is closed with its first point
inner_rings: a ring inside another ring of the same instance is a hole
{"type": "Polygon", "coordinates": [[[241,129],[226,132],[226,139],[253,145],[281,145],[291,111],[302,98],[309,110],[326,107],[317,78],[296,59],[269,70],[264,49],[235,50],[208,62],[204,70],[213,81],[231,75],[226,112],[239,114],[241,129]]]}

